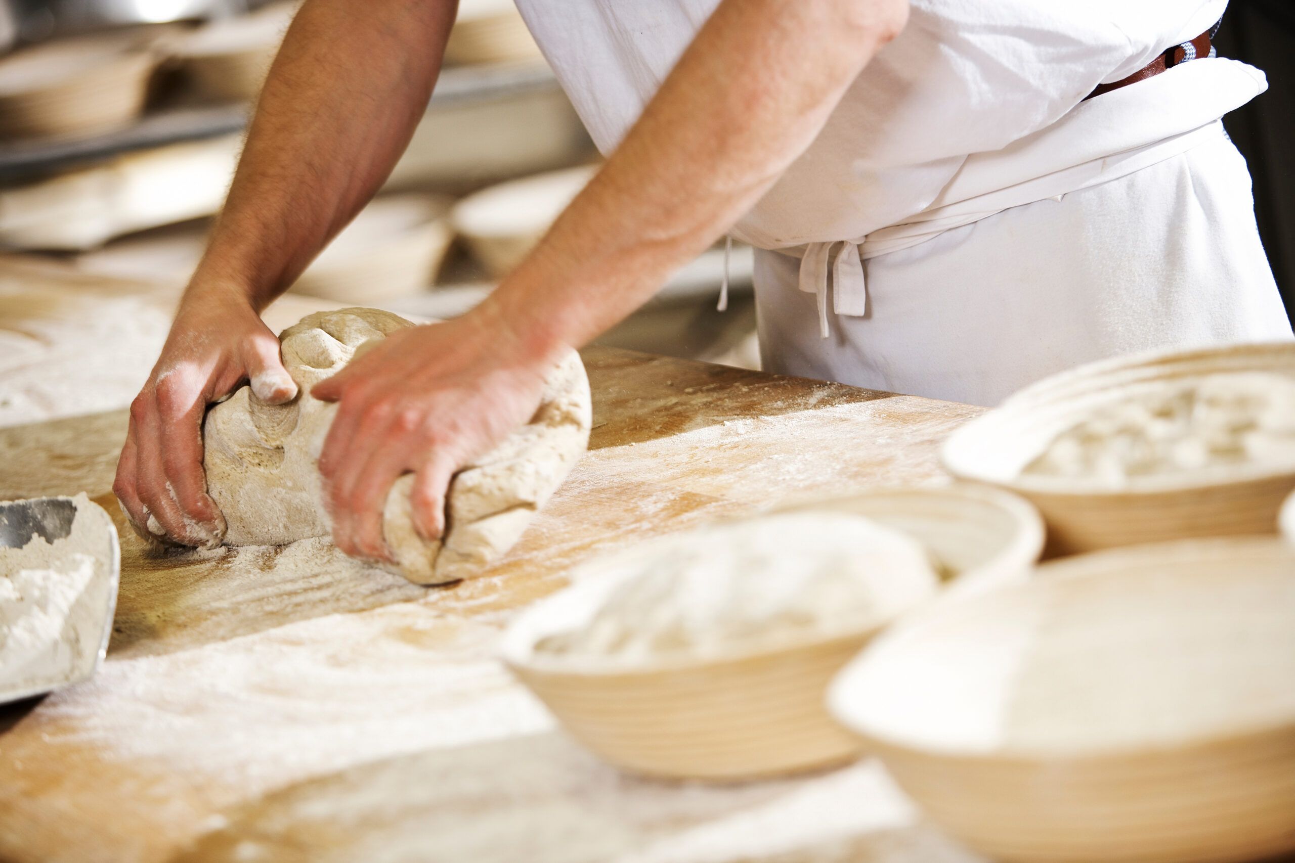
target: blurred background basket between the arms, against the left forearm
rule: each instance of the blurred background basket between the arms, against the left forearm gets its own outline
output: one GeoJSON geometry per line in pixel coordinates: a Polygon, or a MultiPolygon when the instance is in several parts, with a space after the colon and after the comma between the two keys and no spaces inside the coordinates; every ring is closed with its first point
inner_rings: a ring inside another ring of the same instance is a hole
{"type": "Polygon", "coordinates": [[[439,195],[374,199],[302,273],[291,290],[338,303],[381,303],[426,290],[453,241],[439,195]]]}

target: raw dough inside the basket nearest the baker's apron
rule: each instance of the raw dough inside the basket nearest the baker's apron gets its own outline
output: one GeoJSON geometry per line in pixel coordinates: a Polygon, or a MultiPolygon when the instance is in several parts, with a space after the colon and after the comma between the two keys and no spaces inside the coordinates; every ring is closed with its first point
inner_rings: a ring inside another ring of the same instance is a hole
{"type": "Polygon", "coordinates": [[[1054,437],[1024,474],[1121,488],[1243,463],[1295,464],[1295,378],[1234,371],[1131,388],[1054,437]]]}

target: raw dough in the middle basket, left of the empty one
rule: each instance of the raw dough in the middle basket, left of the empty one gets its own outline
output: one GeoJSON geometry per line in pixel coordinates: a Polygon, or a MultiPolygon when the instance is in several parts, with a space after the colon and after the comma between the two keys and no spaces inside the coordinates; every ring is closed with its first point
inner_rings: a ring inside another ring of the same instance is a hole
{"type": "Polygon", "coordinates": [[[580,573],[619,584],[584,625],[536,650],[631,662],[760,650],[881,626],[939,584],[916,540],[839,512],[769,515],[667,536],[580,573]]]}

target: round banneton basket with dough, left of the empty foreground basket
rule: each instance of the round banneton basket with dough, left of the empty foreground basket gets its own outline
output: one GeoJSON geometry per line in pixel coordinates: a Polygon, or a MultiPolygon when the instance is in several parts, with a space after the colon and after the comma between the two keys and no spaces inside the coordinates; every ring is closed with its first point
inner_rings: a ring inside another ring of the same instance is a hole
{"type": "MultiPolygon", "coordinates": [[[[1040,519],[1027,503],[978,489],[877,492],[790,511],[890,512],[878,520],[918,540],[953,586],[1024,580],[1042,547],[1040,519]]],[[[513,673],[600,757],[632,772],[720,781],[859,757],[860,741],[829,716],[824,695],[879,628],[638,666],[536,651],[588,621],[618,584],[592,578],[543,600],[513,624],[502,648],[513,673]]]]}

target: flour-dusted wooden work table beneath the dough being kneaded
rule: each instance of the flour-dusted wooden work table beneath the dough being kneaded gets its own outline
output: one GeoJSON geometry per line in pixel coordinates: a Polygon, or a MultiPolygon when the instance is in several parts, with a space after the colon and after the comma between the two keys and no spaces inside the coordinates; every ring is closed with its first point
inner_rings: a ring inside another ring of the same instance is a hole
{"type": "Polygon", "coordinates": [[[126,413],[0,430],[0,499],[88,492],[122,533],[98,675],[0,709],[0,860],[963,862],[874,762],[729,787],[625,776],[495,660],[584,558],[780,501],[941,481],[976,409],[585,352],[591,452],[483,577],[335,552],[155,556],[110,485],[126,413]],[[255,577],[246,572],[259,555],[255,577]]]}

